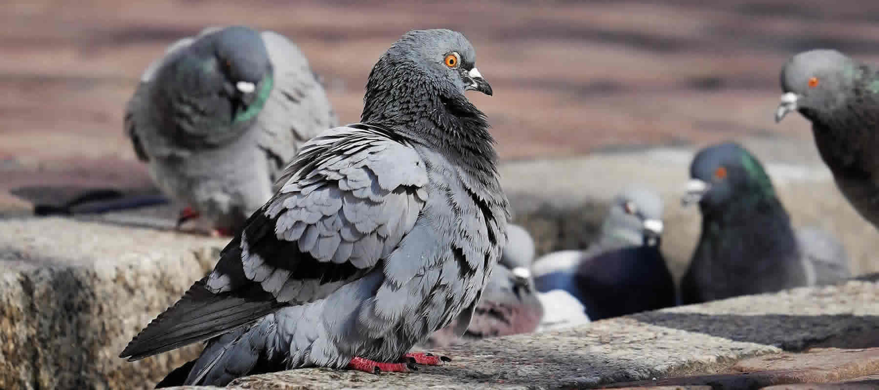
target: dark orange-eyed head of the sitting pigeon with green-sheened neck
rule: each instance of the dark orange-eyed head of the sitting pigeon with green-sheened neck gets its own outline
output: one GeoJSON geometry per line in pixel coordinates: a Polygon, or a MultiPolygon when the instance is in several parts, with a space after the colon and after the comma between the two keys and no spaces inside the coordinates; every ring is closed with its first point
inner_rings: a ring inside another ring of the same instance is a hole
{"type": "Polygon", "coordinates": [[[690,164],[684,206],[699,203],[702,213],[737,204],[776,200],[766,170],[747,149],[735,142],[703,148],[690,164]]]}

